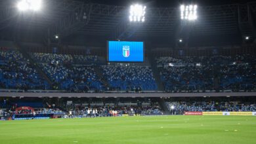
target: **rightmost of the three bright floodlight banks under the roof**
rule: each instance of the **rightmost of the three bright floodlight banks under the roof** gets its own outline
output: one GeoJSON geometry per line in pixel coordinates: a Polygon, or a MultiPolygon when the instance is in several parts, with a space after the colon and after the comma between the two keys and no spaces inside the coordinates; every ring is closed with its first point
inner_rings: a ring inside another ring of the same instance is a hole
{"type": "Polygon", "coordinates": [[[198,5],[181,5],[181,20],[198,19],[198,5]]]}

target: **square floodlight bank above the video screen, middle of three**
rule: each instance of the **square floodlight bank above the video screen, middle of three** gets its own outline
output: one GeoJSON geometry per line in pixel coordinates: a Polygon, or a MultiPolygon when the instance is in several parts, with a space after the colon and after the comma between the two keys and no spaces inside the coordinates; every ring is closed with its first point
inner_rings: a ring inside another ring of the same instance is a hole
{"type": "Polygon", "coordinates": [[[145,22],[146,6],[139,4],[130,7],[130,22],[145,22]]]}

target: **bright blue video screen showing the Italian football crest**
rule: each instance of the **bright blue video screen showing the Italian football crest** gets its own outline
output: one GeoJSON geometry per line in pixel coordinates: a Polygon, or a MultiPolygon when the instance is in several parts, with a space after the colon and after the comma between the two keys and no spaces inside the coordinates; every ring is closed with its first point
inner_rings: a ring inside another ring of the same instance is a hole
{"type": "Polygon", "coordinates": [[[108,41],[108,62],[143,62],[144,43],[108,41]]]}

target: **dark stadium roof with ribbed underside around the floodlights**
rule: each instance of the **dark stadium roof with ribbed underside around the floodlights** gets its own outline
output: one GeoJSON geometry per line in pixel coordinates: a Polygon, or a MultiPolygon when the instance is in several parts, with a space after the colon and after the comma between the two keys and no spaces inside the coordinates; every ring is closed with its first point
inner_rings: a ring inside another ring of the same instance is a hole
{"type": "Polygon", "coordinates": [[[113,39],[131,36],[240,34],[255,36],[256,2],[197,1],[199,18],[182,24],[179,3],[142,1],[148,8],[143,24],[130,24],[129,3],[119,1],[44,0],[40,12],[18,12],[16,1],[0,1],[1,29],[49,29],[62,37],[72,33],[110,35],[113,39]],[[101,3],[101,4],[98,4],[101,3]],[[200,4],[201,3],[201,4],[200,4]],[[164,7],[165,6],[165,7],[164,7]],[[187,27],[190,28],[187,28],[187,27]],[[183,34],[182,34],[183,33],[183,34]]]}

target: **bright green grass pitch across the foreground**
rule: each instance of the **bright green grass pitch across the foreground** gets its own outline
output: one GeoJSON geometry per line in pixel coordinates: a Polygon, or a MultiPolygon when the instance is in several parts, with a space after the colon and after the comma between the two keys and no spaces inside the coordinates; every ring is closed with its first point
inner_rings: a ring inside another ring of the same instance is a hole
{"type": "Polygon", "coordinates": [[[163,116],[0,121],[0,143],[255,144],[256,117],[163,116]]]}

